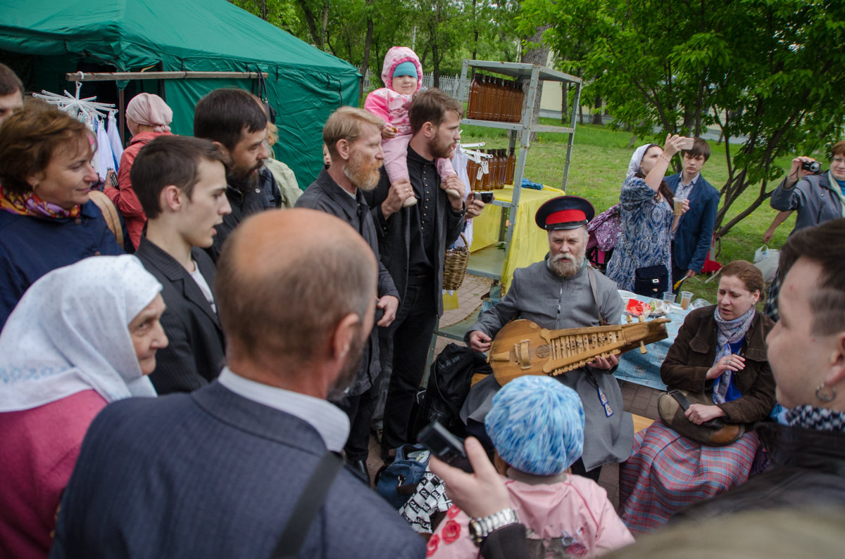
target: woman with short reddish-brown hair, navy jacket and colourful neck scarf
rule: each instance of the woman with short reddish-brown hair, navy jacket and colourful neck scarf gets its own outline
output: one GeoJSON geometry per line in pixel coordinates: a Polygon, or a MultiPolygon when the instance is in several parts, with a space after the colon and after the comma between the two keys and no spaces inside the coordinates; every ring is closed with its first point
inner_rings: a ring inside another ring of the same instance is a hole
{"type": "Polygon", "coordinates": [[[0,327],[42,275],[82,258],[123,254],[90,201],[96,150],[65,112],[26,108],[0,133],[0,327]]]}

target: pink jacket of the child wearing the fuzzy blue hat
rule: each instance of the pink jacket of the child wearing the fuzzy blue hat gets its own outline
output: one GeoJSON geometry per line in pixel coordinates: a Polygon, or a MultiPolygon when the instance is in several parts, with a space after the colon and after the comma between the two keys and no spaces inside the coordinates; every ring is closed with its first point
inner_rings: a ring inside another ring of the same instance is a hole
{"type": "MultiPolygon", "coordinates": [[[[561,475],[556,483],[537,483],[537,477],[509,470],[525,481],[505,479],[529,546],[564,551],[566,556],[594,557],[634,543],[634,538],[596,482],[580,475],[561,475]]],[[[448,488],[447,488],[448,493],[448,488]]],[[[428,540],[428,556],[463,558],[478,556],[469,533],[469,517],[452,506],[428,540]]]]}

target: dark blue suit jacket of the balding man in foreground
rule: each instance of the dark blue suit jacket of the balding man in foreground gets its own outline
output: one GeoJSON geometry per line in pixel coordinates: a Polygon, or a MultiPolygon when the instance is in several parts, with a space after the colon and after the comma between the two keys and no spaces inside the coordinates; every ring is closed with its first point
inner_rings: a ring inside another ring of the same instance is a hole
{"type": "MultiPolygon", "coordinates": [[[[52,557],[270,557],[319,459],[307,422],[211,383],[130,398],[91,423],[52,557]]],[[[341,470],[300,557],[425,556],[425,543],[341,470]]]]}

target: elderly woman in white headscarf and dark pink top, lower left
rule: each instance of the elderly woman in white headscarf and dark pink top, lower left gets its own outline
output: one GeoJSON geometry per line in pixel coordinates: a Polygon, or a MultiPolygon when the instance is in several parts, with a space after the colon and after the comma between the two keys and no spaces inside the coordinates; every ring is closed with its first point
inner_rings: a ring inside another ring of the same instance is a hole
{"type": "Polygon", "coordinates": [[[46,557],[64,487],[94,416],[155,396],[166,347],[161,284],[134,256],[85,258],[35,282],[0,334],[0,550],[46,557]]]}

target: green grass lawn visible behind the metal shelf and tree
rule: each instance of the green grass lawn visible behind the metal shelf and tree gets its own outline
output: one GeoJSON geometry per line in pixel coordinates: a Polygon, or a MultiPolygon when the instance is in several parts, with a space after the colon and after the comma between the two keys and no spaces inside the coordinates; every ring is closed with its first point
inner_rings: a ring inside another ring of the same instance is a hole
{"type": "MultiPolygon", "coordinates": [[[[545,124],[559,124],[553,119],[541,119],[545,124]]],[[[461,141],[466,144],[486,142],[485,148],[500,149],[508,147],[507,133],[494,128],[481,128],[464,125],[461,141]]],[[[619,188],[622,186],[628,161],[634,153],[634,148],[628,148],[631,134],[614,132],[609,128],[598,125],[585,124],[575,130],[575,144],[572,148],[572,162],[570,176],[567,182],[567,193],[583,196],[589,199],[596,208],[596,213],[608,209],[619,202],[619,188]]],[[[534,182],[542,182],[551,187],[560,187],[564,176],[566,160],[566,134],[542,133],[537,142],[532,144],[526,161],[526,178],[534,182]]],[[[638,140],[635,145],[645,144],[638,140]]],[[[661,142],[662,144],[662,142],[661,142]]],[[[702,175],[706,177],[717,190],[721,189],[728,179],[728,166],[725,161],[724,145],[710,142],[711,156],[702,175]]],[[[789,166],[789,160],[779,161],[782,167],[789,166]]],[[[771,188],[777,184],[771,185],[771,188]]],[[[725,223],[739,214],[756,198],[754,187],[745,191],[743,196],[733,204],[725,217],[725,223]]],[[[777,211],[771,209],[768,201],[760,205],[753,214],[734,225],[728,235],[722,238],[722,252],[715,259],[726,264],[732,260],[753,261],[755,250],[762,244],[763,233],[771,225],[777,211]]],[[[794,214],[789,217],[775,232],[769,246],[780,248],[786,242],[789,231],[795,224],[794,214]]],[[[711,254],[711,258],[714,258],[711,254]]],[[[705,283],[708,276],[699,275],[688,279],[684,289],[692,291],[696,299],[703,297],[712,303],[716,302],[717,280],[705,283]]]]}

